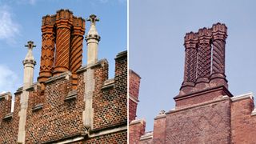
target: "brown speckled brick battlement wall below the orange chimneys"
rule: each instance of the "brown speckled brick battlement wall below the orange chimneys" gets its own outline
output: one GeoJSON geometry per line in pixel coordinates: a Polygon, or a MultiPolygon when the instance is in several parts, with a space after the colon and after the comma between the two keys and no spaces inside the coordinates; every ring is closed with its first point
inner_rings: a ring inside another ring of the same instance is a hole
{"type": "MultiPolygon", "coordinates": [[[[78,57],[78,62],[73,62],[74,67],[81,64],[82,55],[78,57]]],[[[71,142],[74,139],[76,141],[72,143],[127,142],[127,51],[117,54],[113,79],[108,78],[106,59],[92,66],[78,67],[76,72],[66,70],[26,88],[29,94],[26,143],[71,142]],[[85,86],[92,86],[90,83],[86,85],[84,78],[89,69],[94,72],[95,85],[92,95],[94,126],[88,129],[83,122],[83,111],[86,107],[85,86]],[[77,83],[73,81],[74,74],[77,74],[77,83]]],[[[18,142],[18,112],[24,91],[19,88],[15,93],[14,112],[10,116],[11,98],[0,98],[0,143],[18,142]]]]}

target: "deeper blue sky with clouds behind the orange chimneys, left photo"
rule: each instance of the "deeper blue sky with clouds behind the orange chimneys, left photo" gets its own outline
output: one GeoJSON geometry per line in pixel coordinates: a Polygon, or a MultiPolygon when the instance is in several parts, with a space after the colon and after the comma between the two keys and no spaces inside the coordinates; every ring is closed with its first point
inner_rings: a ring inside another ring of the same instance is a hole
{"type": "MultiPolygon", "coordinates": [[[[114,58],[127,47],[126,0],[0,0],[0,93],[12,93],[22,86],[22,60],[26,56],[24,47],[29,40],[37,46],[34,58],[36,82],[41,56],[42,16],[56,14],[57,10],[69,9],[75,16],[88,18],[96,14],[98,34],[101,42],[98,59],[107,58],[110,78],[114,77],[114,58]]],[[[86,33],[90,22],[86,22],[86,33]]],[[[86,65],[86,41],[83,42],[83,65],[86,65]]]]}

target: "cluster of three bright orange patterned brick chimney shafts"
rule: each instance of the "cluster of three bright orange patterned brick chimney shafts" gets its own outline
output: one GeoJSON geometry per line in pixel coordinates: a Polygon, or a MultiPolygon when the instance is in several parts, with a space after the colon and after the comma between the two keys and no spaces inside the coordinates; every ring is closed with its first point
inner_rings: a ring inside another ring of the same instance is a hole
{"type": "Polygon", "coordinates": [[[42,56],[38,82],[70,70],[73,88],[77,86],[76,71],[82,66],[82,41],[85,20],[73,16],[70,10],[42,18],[42,56]]]}

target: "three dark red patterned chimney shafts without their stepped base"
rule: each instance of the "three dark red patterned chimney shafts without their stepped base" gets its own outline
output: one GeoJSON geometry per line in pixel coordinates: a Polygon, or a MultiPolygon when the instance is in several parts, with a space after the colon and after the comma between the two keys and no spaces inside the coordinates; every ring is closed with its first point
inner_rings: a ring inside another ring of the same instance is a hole
{"type": "Polygon", "coordinates": [[[227,28],[217,23],[185,36],[185,70],[180,94],[211,86],[226,86],[225,44],[227,28]],[[202,86],[203,84],[203,86],[202,86]]]}

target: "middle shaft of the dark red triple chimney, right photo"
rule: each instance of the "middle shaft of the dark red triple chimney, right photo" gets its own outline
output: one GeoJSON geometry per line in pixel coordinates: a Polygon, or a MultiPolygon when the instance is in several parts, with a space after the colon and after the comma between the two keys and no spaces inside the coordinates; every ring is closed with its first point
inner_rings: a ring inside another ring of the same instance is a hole
{"type": "Polygon", "coordinates": [[[202,28],[198,31],[198,67],[197,83],[209,82],[211,65],[211,30],[202,28]]]}

